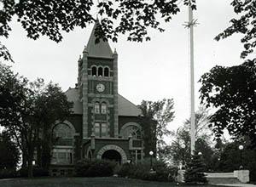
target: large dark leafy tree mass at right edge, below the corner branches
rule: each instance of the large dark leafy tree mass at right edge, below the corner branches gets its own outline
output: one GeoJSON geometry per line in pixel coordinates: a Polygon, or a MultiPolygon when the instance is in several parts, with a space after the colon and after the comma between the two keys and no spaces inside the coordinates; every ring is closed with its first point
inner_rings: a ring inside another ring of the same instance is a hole
{"type": "Polygon", "coordinates": [[[214,107],[210,126],[217,137],[227,129],[230,135],[248,136],[256,147],[256,59],[241,65],[215,66],[205,73],[202,84],[201,103],[214,107]]]}

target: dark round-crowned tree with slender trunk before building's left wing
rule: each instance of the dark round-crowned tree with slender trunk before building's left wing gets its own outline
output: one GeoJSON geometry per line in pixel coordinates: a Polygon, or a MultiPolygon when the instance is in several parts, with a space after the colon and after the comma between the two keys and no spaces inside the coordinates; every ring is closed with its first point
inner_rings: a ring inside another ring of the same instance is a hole
{"type": "Polygon", "coordinates": [[[35,100],[36,120],[39,124],[41,138],[38,137],[38,161],[40,167],[49,169],[52,150],[51,127],[56,121],[63,121],[71,113],[72,103],[57,84],[50,82],[38,94],[35,100]],[[40,149],[41,148],[41,149],[40,149]]]}

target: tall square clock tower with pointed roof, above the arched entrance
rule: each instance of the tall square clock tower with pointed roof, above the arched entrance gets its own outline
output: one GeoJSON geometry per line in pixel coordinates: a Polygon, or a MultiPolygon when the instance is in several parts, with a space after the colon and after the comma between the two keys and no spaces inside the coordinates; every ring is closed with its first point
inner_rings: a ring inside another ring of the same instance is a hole
{"type": "Polygon", "coordinates": [[[96,42],[96,22],[79,58],[79,98],[83,139],[118,138],[118,54],[108,42],[96,42]]]}

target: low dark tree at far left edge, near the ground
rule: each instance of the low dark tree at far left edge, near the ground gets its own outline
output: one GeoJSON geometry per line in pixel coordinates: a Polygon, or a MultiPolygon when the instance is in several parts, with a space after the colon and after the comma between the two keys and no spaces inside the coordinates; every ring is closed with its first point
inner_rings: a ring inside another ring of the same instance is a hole
{"type": "Polygon", "coordinates": [[[20,161],[20,151],[6,131],[0,133],[0,170],[15,170],[20,161]]]}

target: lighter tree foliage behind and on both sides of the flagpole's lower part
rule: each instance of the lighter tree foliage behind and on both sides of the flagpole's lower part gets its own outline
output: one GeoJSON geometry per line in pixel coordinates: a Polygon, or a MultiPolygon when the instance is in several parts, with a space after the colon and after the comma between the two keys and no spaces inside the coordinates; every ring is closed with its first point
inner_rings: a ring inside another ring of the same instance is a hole
{"type": "MultiPolygon", "coordinates": [[[[202,159],[207,170],[212,168],[212,130],[208,127],[211,121],[207,109],[203,106],[195,112],[195,149],[201,151],[202,159]]],[[[173,135],[172,144],[166,147],[169,160],[179,167],[182,162],[186,165],[190,159],[190,120],[187,119],[182,127],[173,135]],[[182,148],[182,144],[185,145],[182,148]]]]}

